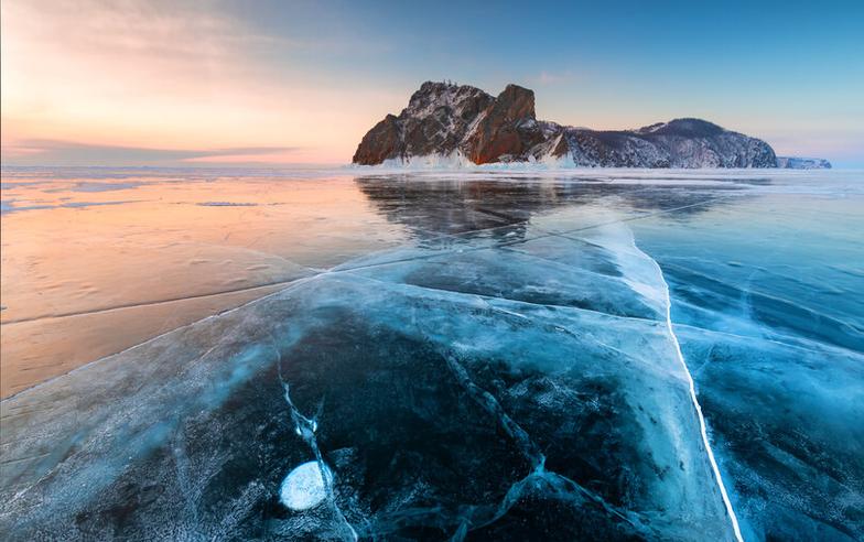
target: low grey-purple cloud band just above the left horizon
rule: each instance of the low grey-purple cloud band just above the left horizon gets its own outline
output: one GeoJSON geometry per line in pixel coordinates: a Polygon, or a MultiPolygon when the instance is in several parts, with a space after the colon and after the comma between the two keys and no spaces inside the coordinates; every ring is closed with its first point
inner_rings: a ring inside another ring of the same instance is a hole
{"type": "Polygon", "coordinates": [[[152,149],[30,139],[2,149],[6,165],[182,165],[190,163],[280,163],[302,151],[296,147],[152,149]]]}

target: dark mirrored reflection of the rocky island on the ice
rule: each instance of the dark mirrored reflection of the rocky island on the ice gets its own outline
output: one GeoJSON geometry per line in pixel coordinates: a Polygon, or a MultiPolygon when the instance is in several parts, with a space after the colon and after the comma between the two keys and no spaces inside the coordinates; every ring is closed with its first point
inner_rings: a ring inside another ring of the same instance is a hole
{"type": "MultiPolygon", "coordinates": [[[[355,182],[388,220],[429,237],[525,225],[534,215],[565,207],[605,205],[624,215],[663,212],[670,217],[687,217],[721,205],[725,195],[743,195],[747,184],[769,180],[725,180],[708,186],[704,182],[678,180],[658,186],[616,184],[595,177],[368,175],[355,182]]],[[[523,235],[525,228],[511,231],[523,235]]]]}

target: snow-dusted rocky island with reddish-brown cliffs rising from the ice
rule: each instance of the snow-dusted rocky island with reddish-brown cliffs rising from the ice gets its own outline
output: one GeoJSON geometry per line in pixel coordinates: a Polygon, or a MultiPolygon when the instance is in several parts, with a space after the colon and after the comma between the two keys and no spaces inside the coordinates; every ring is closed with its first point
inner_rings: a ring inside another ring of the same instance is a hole
{"type": "Polygon", "coordinates": [[[353,162],[404,165],[430,160],[575,167],[778,166],[765,141],[700,119],[637,130],[573,128],[537,120],[533,91],[517,85],[493,97],[467,85],[426,82],[398,117],[388,115],[366,133],[353,162]]]}

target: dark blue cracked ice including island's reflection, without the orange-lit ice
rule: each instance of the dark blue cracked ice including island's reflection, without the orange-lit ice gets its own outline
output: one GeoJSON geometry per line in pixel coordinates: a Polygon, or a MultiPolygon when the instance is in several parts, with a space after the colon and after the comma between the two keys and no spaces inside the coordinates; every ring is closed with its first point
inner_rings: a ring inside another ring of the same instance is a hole
{"type": "Polygon", "coordinates": [[[855,540],[861,196],[782,246],[808,178],[358,178],[401,246],[3,401],[0,528],[855,540]]]}

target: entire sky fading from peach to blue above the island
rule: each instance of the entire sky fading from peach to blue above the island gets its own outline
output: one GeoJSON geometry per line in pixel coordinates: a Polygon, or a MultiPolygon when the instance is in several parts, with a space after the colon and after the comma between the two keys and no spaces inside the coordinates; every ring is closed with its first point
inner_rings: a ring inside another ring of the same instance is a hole
{"type": "Polygon", "coordinates": [[[3,0],[3,164],[348,163],[424,80],[864,167],[864,2],[3,0]]]}

